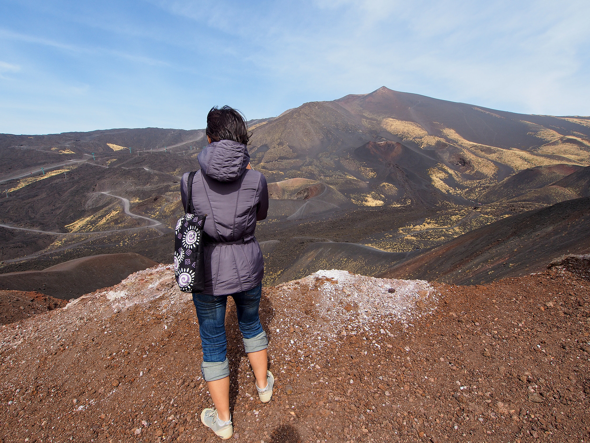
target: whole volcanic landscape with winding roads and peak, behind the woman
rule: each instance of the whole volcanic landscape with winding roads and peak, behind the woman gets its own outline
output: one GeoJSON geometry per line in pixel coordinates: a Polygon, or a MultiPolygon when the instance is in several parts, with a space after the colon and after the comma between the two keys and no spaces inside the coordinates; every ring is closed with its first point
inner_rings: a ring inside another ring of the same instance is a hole
{"type": "MultiPolygon", "coordinates": [[[[383,272],[504,217],[588,193],[587,117],[382,87],[248,124],[251,164],[271,198],[257,228],[265,284],[319,262],[383,272]]],[[[0,135],[2,272],[99,253],[168,262],[183,211],[179,177],[199,168],[204,144],[203,129],[0,135]]]]}

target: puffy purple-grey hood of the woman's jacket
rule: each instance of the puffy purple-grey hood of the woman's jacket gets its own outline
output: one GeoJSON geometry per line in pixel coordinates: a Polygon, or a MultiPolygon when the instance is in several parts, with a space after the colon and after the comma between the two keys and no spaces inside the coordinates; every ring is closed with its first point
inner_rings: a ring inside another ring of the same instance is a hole
{"type": "Polygon", "coordinates": [[[212,142],[197,158],[205,175],[217,181],[238,180],[250,162],[248,148],[231,140],[212,142]]]}

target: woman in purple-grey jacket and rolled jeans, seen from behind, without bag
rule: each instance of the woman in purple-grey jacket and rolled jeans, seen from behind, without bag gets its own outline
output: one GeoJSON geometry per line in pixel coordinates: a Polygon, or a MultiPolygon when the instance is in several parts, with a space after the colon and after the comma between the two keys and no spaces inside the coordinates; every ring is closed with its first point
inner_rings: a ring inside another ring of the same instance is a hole
{"type": "MultiPolygon", "coordinates": [[[[258,307],[264,260],[254,237],[257,220],[266,219],[266,179],[250,167],[248,129],[235,109],[212,108],[207,115],[207,141],[198,155],[201,171],[192,184],[195,213],[205,221],[205,291],[193,294],[203,348],[201,370],[215,409],[204,409],[201,421],[222,439],[234,433],[230,414],[230,365],[226,356],[225,305],[234,298],[238,325],[263,403],[273,395],[274,377],[267,370],[268,340],[258,307]]],[[[188,172],[182,176],[186,207],[188,172]]]]}

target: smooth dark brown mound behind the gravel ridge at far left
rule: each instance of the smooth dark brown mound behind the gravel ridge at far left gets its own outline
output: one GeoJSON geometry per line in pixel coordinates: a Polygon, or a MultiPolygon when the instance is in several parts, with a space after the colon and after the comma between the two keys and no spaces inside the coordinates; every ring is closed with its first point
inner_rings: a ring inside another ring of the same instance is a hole
{"type": "Polygon", "coordinates": [[[70,260],[43,271],[10,272],[0,275],[0,290],[37,291],[68,300],[96,289],[113,286],[136,271],[156,266],[136,253],[101,254],[70,260]]]}

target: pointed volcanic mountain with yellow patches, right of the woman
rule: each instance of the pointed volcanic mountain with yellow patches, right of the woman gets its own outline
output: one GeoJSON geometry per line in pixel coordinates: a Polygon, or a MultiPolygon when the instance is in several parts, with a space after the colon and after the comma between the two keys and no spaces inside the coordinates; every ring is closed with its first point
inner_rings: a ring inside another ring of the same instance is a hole
{"type": "Polygon", "coordinates": [[[386,87],[304,103],[253,132],[252,164],[270,181],[323,181],[366,206],[453,204],[517,171],[590,164],[590,118],[516,114],[386,87]]]}

